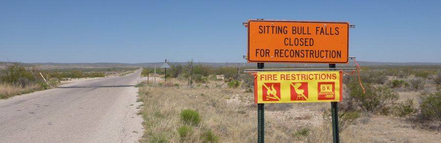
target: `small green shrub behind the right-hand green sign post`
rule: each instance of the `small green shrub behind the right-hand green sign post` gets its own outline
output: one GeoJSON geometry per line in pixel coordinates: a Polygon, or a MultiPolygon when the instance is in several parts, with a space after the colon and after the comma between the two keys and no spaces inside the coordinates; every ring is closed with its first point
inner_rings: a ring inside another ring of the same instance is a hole
{"type": "MultiPolygon", "coordinates": [[[[339,132],[342,132],[350,124],[354,124],[358,118],[360,118],[360,114],[358,114],[357,112],[347,111],[339,113],[339,132]]],[[[331,122],[332,117],[329,110],[323,112],[323,119],[331,122]]]]}

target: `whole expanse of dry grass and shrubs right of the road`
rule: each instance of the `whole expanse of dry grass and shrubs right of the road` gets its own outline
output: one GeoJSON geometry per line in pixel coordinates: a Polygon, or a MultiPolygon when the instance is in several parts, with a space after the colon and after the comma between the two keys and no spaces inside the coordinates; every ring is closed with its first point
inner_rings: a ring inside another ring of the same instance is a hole
{"type": "MultiPolygon", "coordinates": [[[[141,142],[257,142],[252,76],[238,74],[237,68],[212,68],[192,61],[171,67],[166,83],[138,85],[139,100],[144,102],[139,113],[145,127],[141,142]],[[221,74],[224,78],[218,79],[221,74]]],[[[149,70],[143,72],[152,73],[149,70]]],[[[437,70],[439,67],[363,67],[360,76],[365,94],[356,75],[344,75],[343,101],[339,103],[341,141],[440,141],[437,70]]],[[[160,71],[156,73],[164,77],[160,71]]],[[[267,142],[332,141],[329,103],[266,104],[265,109],[267,142]]]]}

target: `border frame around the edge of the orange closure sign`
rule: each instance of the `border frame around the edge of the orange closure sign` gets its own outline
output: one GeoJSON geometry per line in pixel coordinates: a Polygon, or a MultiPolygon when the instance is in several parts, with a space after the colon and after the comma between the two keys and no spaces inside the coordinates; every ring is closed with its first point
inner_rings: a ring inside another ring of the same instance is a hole
{"type": "Polygon", "coordinates": [[[284,20],[248,20],[247,23],[247,62],[248,63],[317,63],[317,64],[348,64],[349,63],[349,22],[325,22],[325,21],[284,21],[284,20]],[[347,59],[344,62],[314,62],[314,61],[265,61],[265,60],[250,60],[250,24],[252,22],[268,22],[268,23],[314,23],[314,24],[346,24],[347,26],[347,45],[346,45],[346,57],[347,59]]]}

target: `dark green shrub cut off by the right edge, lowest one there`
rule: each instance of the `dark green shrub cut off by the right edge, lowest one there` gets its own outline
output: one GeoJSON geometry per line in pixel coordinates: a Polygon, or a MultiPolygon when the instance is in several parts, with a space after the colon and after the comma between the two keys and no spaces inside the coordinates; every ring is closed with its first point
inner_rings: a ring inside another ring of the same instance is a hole
{"type": "Polygon", "coordinates": [[[433,119],[441,125],[441,92],[421,95],[422,103],[419,105],[422,119],[433,119]]]}

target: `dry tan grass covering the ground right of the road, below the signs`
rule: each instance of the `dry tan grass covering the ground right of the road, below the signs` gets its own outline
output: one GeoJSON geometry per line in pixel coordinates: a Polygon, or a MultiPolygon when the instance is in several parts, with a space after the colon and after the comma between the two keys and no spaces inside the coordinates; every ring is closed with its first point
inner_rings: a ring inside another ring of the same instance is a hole
{"type": "MultiPolygon", "coordinates": [[[[212,130],[221,143],[257,142],[257,106],[245,89],[219,87],[222,81],[188,87],[186,81],[167,80],[163,86],[140,87],[144,102],[141,115],[145,133],[141,142],[199,143],[201,135],[212,130]],[[165,86],[174,85],[180,86],[165,86]],[[184,125],[179,114],[184,109],[198,111],[202,120],[181,138],[177,129],[184,125]]],[[[197,84],[194,84],[197,85],[197,84]]],[[[411,98],[412,94],[403,96],[411,98]]],[[[331,123],[322,118],[329,103],[282,103],[265,105],[265,141],[268,143],[329,143],[331,123]]],[[[403,118],[375,115],[363,117],[340,133],[342,143],[437,143],[440,131],[418,128],[403,118]]]]}

